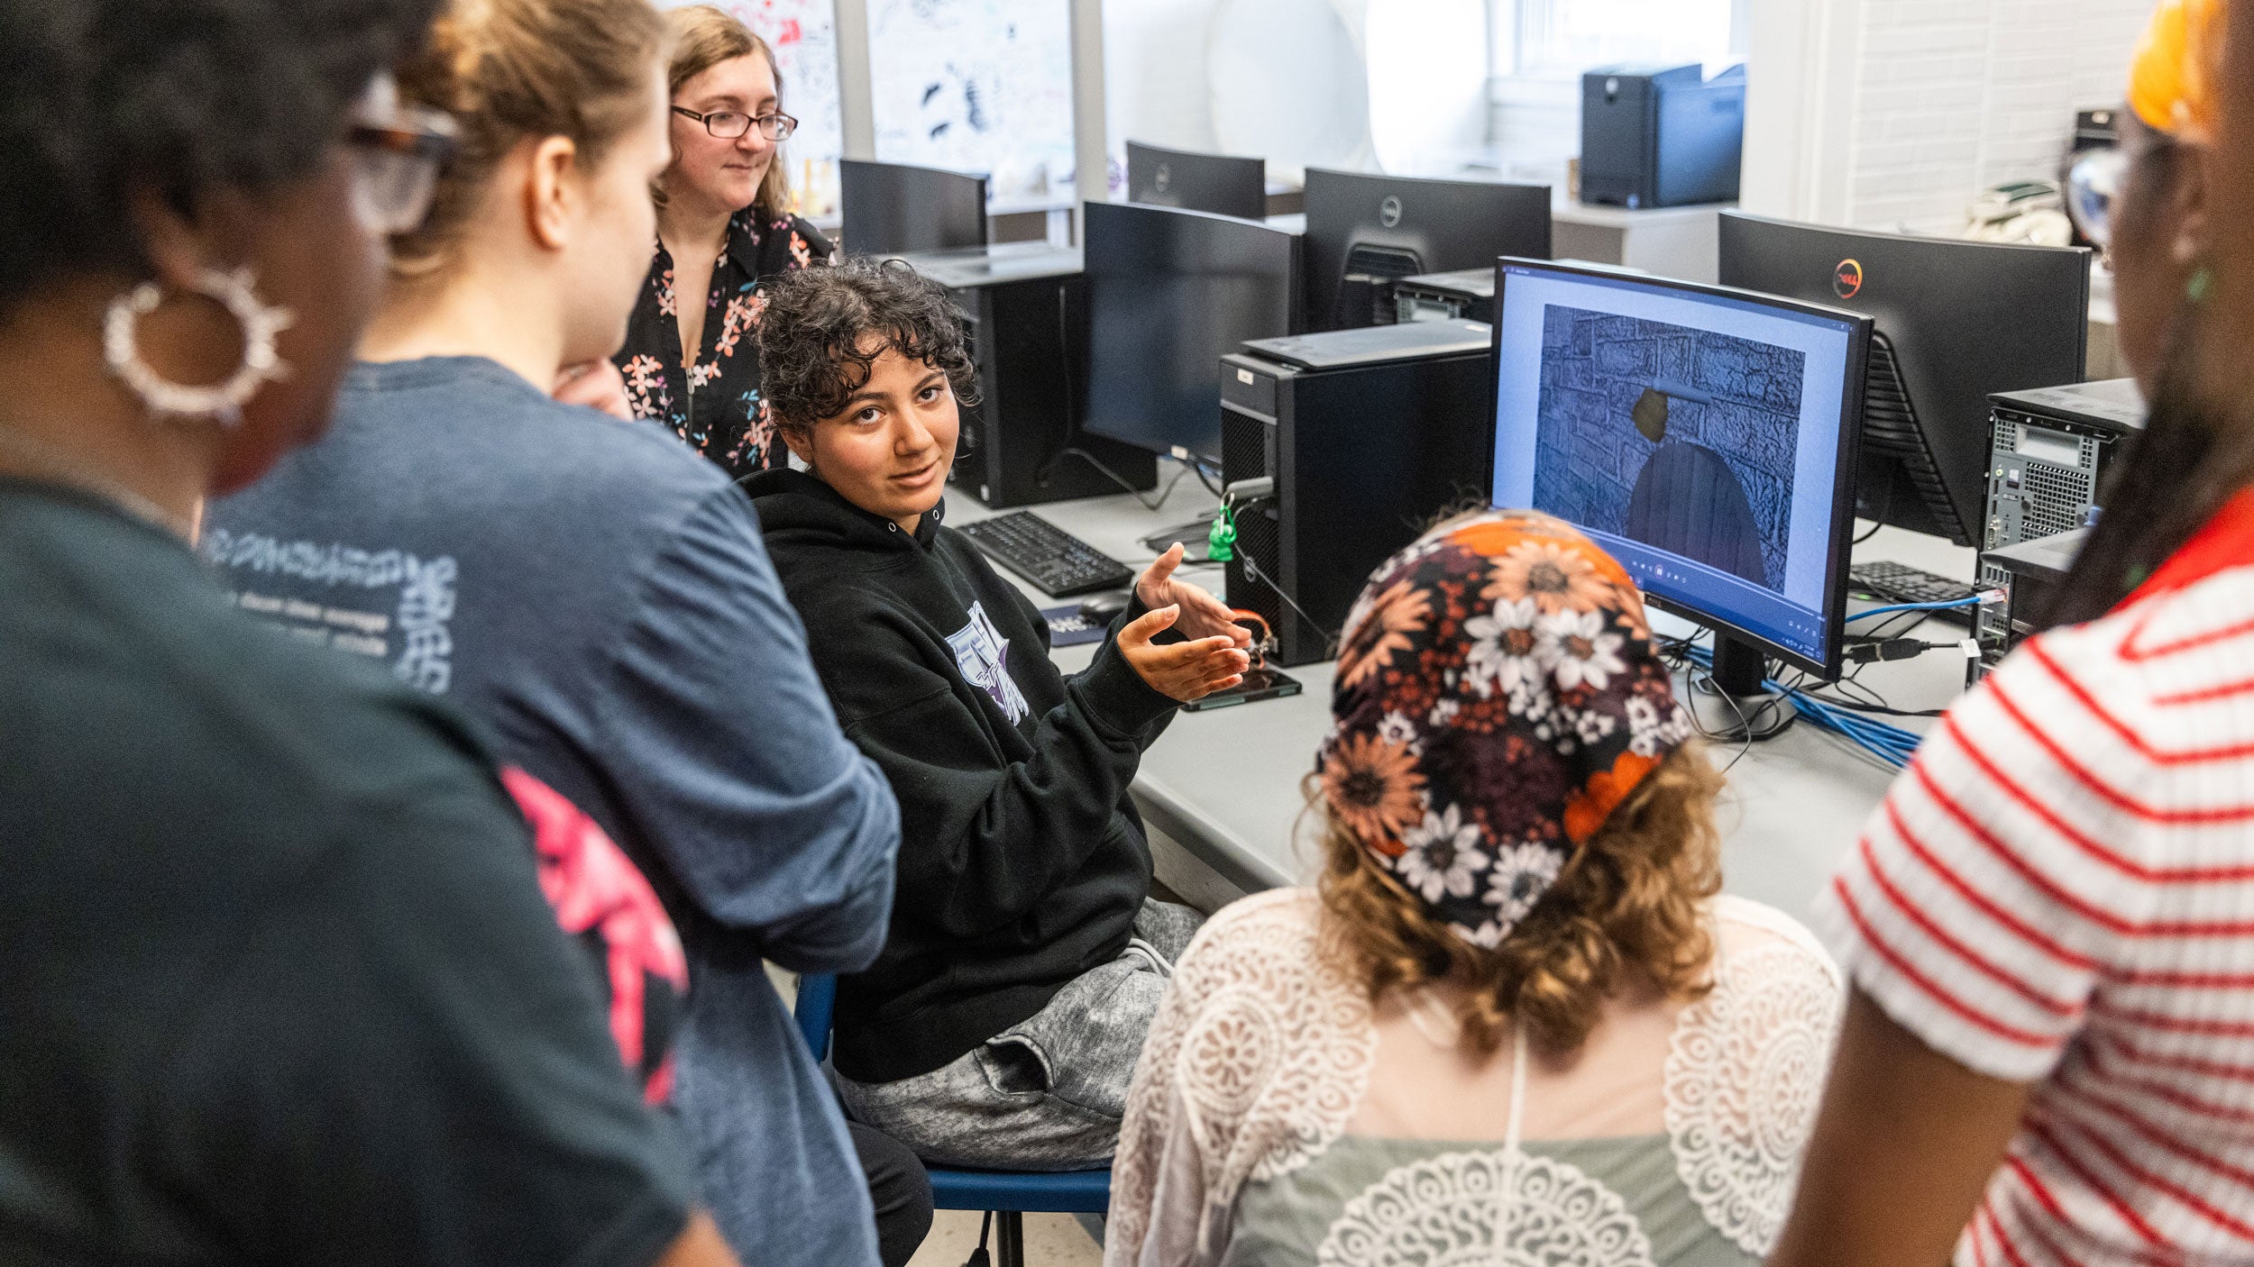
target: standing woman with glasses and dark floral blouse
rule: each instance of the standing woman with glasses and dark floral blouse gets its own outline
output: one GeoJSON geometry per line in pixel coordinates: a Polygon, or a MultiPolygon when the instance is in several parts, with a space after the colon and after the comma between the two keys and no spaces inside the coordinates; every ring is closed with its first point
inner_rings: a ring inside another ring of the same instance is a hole
{"type": "Polygon", "coordinates": [[[674,160],[654,189],[658,252],[611,363],[636,417],[742,478],[789,455],[760,399],[762,291],[829,264],[832,246],[791,214],[780,147],[798,119],[782,113],[775,50],[710,5],[665,18],[674,160]]]}

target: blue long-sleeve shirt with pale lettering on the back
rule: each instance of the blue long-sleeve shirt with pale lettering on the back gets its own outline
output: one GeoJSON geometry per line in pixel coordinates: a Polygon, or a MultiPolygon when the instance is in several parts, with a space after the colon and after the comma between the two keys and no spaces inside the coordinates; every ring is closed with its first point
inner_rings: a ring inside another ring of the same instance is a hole
{"type": "Polygon", "coordinates": [[[358,365],[331,433],[212,507],[234,602],[476,717],[658,886],[674,1105],[746,1262],[875,1267],[836,1098],[762,958],[884,945],[899,807],[838,730],[748,498],[676,437],[473,356],[358,365]]]}

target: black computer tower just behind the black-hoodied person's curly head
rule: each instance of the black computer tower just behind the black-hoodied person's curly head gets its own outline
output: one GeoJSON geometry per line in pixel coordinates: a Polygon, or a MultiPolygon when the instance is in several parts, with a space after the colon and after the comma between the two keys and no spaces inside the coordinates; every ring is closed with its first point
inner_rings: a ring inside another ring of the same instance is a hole
{"type": "Polygon", "coordinates": [[[1008,510],[1159,482],[1147,449],[1077,428],[1077,390],[1089,374],[1077,250],[1028,241],[899,259],[947,286],[978,367],[978,404],[962,410],[949,473],[956,487],[1008,510]]]}

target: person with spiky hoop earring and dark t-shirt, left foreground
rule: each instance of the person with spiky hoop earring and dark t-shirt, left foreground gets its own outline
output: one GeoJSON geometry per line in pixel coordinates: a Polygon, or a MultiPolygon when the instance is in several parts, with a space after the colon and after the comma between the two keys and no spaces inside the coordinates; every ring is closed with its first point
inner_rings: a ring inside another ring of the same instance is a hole
{"type": "Polygon", "coordinates": [[[0,1262],[735,1262],[482,742],[189,550],[431,203],[431,9],[0,5],[0,1262]]]}

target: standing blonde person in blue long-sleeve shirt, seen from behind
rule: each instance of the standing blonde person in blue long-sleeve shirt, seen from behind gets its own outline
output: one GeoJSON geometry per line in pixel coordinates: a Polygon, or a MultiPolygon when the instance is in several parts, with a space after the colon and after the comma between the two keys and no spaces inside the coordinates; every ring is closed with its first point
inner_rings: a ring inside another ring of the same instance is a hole
{"type": "MultiPolygon", "coordinates": [[[[863,1141],[762,960],[875,958],[899,809],[742,489],[548,397],[618,347],[649,262],[665,25],[642,0],[458,0],[399,81],[460,149],[392,239],[331,435],[216,503],[205,555],[241,606],[460,703],[627,850],[687,949],[674,1107],[721,1231],[762,1267],[875,1267],[863,1141]]],[[[926,1181],[868,1148],[906,1190],[904,1260],[926,1181]]]]}

